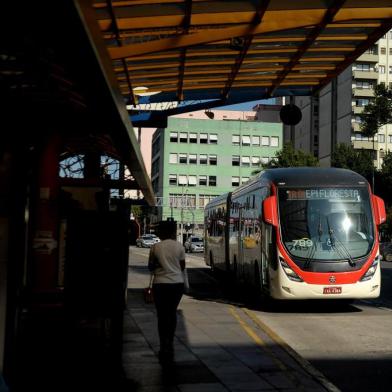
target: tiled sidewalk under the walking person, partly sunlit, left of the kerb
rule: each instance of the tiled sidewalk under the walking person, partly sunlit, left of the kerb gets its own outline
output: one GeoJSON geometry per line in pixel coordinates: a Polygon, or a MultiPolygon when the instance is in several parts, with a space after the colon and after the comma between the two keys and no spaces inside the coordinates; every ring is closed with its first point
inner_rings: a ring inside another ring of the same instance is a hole
{"type": "MultiPolygon", "coordinates": [[[[185,295],[178,311],[176,366],[162,371],[154,305],[143,301],[147,268],[130,265],[123,367],[140,392],[337,391],[309,374],[240,307],[185,295]]],[[[197,287],[205,279],[189,269],[197,287]]]]}

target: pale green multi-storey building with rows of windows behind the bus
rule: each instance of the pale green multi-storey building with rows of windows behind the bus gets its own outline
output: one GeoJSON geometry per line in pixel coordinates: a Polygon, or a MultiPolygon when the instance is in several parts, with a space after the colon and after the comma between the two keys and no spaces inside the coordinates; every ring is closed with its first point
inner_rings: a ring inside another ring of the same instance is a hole
{"type": "Polygon", "coordinates": [[[180,232],[202,233],[204,206],[243,184],[282,148],[281,123],[255,112],[199,111],[168,119],[152,140],[151,180],[158,220],[173,217],[180,232]]]}

